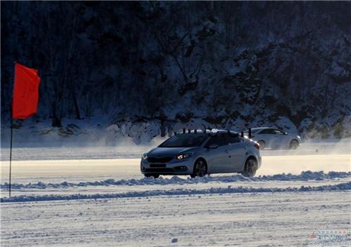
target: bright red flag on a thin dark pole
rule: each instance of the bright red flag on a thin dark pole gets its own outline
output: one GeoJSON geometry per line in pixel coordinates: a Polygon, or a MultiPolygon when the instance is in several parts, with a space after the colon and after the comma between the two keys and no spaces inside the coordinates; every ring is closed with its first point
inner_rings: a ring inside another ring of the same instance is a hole
{"type": "Polygon", "coordinates": [[[40,77],[37,69],[15,63],[12,118],[27,119],[37,112],[40,77]]]}

